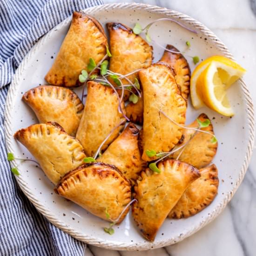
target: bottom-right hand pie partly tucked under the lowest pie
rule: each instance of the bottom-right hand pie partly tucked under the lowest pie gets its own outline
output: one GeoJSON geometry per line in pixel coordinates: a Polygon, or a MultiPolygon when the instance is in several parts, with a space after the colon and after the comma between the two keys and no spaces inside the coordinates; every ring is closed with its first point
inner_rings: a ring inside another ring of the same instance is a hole
{"type": "Polygon", "coordinates": [[[219,185],[215,164],[202,168],[199,172],[201,177],[189,185],[168,217],[180,219],[193,216],[214,200],[219,185]]]}

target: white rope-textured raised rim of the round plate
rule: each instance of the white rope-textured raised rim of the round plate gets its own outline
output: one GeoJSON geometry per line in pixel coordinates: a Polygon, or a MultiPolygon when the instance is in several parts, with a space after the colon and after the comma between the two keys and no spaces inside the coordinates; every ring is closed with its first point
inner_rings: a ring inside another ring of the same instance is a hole
{"type": "MultiPolygon", "coordinates": [[[[222,54],[232,60],[234,60],[232,54],[229,52],[228,48],[222,43],[222,41],[211,31],[208,27],[203,25],[201,22],[195,20],[194,18],[191,18],[190,16],[167,9],[165,7],[158,7],[155,5],[149,5],[149,4],[142,4],[142,3],[117,3],[117,4],[104,4],[100,6],[94,6],[89,7],[87,9],[82,10],[85,13],[93,14],[97,13],[99,11],[104,11],[108,9],[138,9],[138,10],[144,10],[152,13],[159,13],[167,16],[171,16],[172,18],[179,19],[179,21],[189,24],[190,26],[194,27],[196,30],[200,31],[204,36],[207,37],[210,41],[214,42],[216,47],[222,52],[222,54]]],[[[7,152],[13,152],[12,150],[12,143],[11,138],[13,135],[11,134],[11,115],[10,112],[14,106],[12,106],[12,99],[14,98],[16,88],[19,86],[20,83],[20,74],[22,73],[22,70],[26,67],[27,61],[37,52],[37,49],[39,49],[44,42],[47,40],[48,37],[53,34],[54,30],[58,29],[59,27],[62,27],[63,25],[66,25],[70,20],[72,19],[72,15],[67,17],[65,20],[63,20],[61,23],[59,23],[57,26],[53,27],[50,31],[47,32],[43,37],[40,38],[40,40],[35,43],[35,45],[30,49],[30,51],[26,54],[26,56],[21,61],[19,67],[17,68],[14,76],[13,81],[10,85],[10,88],[7,93],[7,100],[5,103],[5,114],[4,114],[4,129],[5,129],[5,141],[7,146],[7,152]]],[[[227,193],[225,197],[223,197],[222,201],[216,206],[216,208],[211,212],[210,215],[207,215],[203,218],[203,220],[193,226],[190,229],[186,229],[186,232],[182,234],[181,236],[175,236],[168,239],[160,240],[158,242],[141,242],[141,243],[124,243],[124,242],[115,242],[115,241],[109,241],[109,240],[103,240],[94,236],[90,236],[81,232],[77,232],[75,229],[72,229],[70,226],[65,224],[64,222],[58,220],[57,216],[54,216],[48,209],[44,207],[44,205],[40,204],[40,202],[37,200],[36,196],[33,195],[33,192],[27,188],[27,183],[25,180],[22,179],[22,176],[16,176],[16,181],[18,182],[20,189],[23,191],[23,193],[27,196],[30,202],[33,203],[34,207],[47,218],[49,222],[54,224],[57,228],[63,230],[70,236],[73,236],[74,238],[89,243],[98,247],[102,247],[105,249],[115,249],[115,250],[147,250],[147,249],[156,249],[163,246],[168,246],[174,243],[181,242],[183,239],[185,239],[188,236],[191,236],[195,232],[197,232],[199,229],[207,225],[209,222],[213,221],[226,207],[227,203],[231,200],[233,195],[235,194],[236,190],[238,189],[239,185],[243,181],[243,177],[247,171],[250,157],[253,151],[254,147],[254,139],[255,139],[255,121],[254,121],[254,109],[253,109],[253,103],[252,99],[249,94],[249,89],[246,86],[243,79],[239,79],[239,82],[241,84],[241,88],[243,91],[243,98],[245,100],[245,106],[247,110],[245,110],[245,114],[248,117],[248,126],[249,126],[249,141],[248,146],[246,149],[246,155],[245,159],[243,161],[242,169],[239,171],[239,176],[236,182],[233,182],[233,188],[227,193]]],[[[17,163],[15,161],[11,162],[11,166],[14,167],[17,163]]]]}

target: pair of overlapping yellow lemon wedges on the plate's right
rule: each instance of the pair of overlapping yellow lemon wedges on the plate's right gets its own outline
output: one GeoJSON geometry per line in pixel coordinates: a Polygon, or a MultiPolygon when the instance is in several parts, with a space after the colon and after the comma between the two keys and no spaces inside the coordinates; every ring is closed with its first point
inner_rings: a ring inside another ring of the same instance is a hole
{"type": "Polygon", "coordinates": [[[234,115],[226,90],[245,72],[243,67],[223,56],[212,56],[202,61],[190,80],[194,108],[206,105],[222,115],[234,115]]]}

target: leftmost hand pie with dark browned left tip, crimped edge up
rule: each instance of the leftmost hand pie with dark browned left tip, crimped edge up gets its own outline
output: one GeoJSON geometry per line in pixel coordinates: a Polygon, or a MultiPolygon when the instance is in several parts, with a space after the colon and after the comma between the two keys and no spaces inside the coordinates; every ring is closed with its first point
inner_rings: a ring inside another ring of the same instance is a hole
{"type": "Polygon", "coordinates": [[[86,157],[79,141],[57,123],[34,124],[20,129],[14,137],[34,155],[54,184],[67,172],[82,165],[86,157]]]}

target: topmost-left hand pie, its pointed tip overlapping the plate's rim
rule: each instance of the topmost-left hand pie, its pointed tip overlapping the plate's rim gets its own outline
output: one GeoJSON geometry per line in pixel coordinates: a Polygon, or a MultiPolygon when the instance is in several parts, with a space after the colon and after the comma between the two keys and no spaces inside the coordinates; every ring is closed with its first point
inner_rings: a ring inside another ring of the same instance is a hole
{"type": "Polygon", "coordinates": [[[74,12],[67,35],[45,80],[53,85],[74,87],[81,85],[81,70],[88,71],[89,58],[96,63],[106,54],[107,37],[101,24],[85,13],[74,12]]]}

